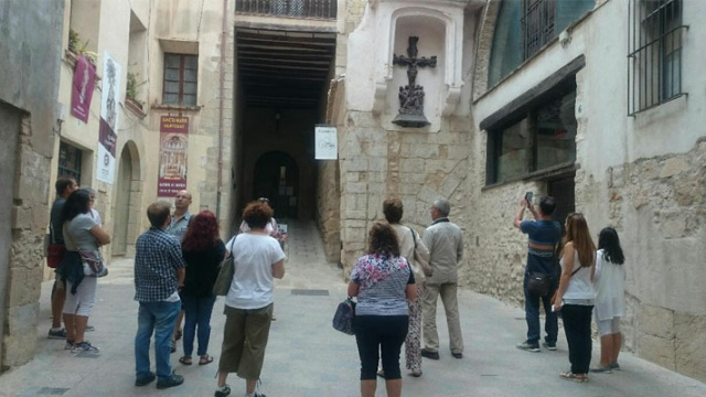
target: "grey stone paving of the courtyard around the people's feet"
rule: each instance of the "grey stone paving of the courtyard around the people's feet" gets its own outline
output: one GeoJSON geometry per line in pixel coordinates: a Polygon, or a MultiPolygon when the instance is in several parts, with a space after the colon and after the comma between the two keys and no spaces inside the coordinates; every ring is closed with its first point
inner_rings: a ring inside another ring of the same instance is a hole
{"type": "MultiPolygon", "coordinates": [[[[355,337],[331,328],[333,312],[346,296],[342,270],[336,264],[325,261],[323,244],[313,223],[289,221],[288,224],[287,273],[284,280],[276,282],[277,321],[271,326],[260,390],[274,397],[357,397],[360,361],[355,337]],[[324,290],[329,296],[293,294],[293,288],[324,290]]],[[[185,377],[185,383],[168,393],[157,390],[154,384],[138,388],[133,386],[138,304],[132,300],[131,271],[131,260],[114,261],[110,275],[99,281],[98,302],[89,321],[96,331],[88,334],[92,343],[101,350],[94,360],[75,357],[63,350],[63,341],[46,339],[52,285],[42,285],[38,354],[29,364],[0,376],[0,396],[38,396],[42,395],[43,388],[65,389],[62,396],[66,397],[212,396],[225,322],[223,298],[217,299],[211,322],[208,353],[215,362],[205,366],[179,364],[178,358],[183,353],[180,343],[171,357],[174,369],[185,377]]],[[[522,310],[468,290],[460,291],[459,308],[466,344],[463,360],[451,357],[446,319],[439,308],[437,326],[441,360],[425,358],[424,375],[414,378],[404,369],[403,354],[404,397],[565,397],[569,391],[573,397],[706,395],[703,383],[627,353],[620,356],[621,372],[591,375],[588,384],[564,382],[557,376],[569,366],[563,335],[557,352],[522,352],[514,346],[526,331],[522,310]]],[[[595,343],[595,358],[599,348],[599,343],[595,343]]],[[[231,375],[228,383],[232,396],[243,395],[243,379],[231,375]]],[[[43,395],[51,394],[45,391],[43,395]]],[[[381,380],[376,396],[385,395],[381,380]]]]}

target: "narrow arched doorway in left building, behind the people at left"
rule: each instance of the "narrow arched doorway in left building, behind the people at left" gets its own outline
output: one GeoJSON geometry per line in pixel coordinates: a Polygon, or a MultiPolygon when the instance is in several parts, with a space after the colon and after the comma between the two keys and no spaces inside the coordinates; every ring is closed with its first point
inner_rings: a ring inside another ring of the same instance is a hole
{"type": "Polygon", "coordinates": [[[118,164],[118,183],[115,197],[115,222],[113,227],[113,255],[131,257],[139,233],[140,160],[137,146],[128,141],[122,147],[118,164]]]}

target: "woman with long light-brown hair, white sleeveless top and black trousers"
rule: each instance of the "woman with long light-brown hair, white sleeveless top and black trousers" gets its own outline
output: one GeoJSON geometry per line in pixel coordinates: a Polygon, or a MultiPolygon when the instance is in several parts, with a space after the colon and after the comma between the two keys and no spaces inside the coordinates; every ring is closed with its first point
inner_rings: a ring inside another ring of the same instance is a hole
{"type": "Polygon", "coordinates": [[[565,226],[561,276],[552,309],[561,311],[571,371],[559,376],[567,380],[587,382],[591,362],[591,311],[596,301],[596,245],[582,214],[569,214],[565,226]]]}

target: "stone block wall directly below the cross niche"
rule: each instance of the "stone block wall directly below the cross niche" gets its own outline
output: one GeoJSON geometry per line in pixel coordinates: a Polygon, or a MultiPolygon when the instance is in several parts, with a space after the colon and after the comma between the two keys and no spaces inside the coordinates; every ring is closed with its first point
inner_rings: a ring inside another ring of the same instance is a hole
{"type": "Polygon", "coordinates": [[[350,111],[341,135],[343,276],[365,250],[367,233],[384,219],[383,201],[399,197],[403,223],[421,230],[434,200],[451,202],[451,218],[468,225],[467,159],[470,120],[443,118],[439,132],[387,131],[371,112],[350,111]]]}

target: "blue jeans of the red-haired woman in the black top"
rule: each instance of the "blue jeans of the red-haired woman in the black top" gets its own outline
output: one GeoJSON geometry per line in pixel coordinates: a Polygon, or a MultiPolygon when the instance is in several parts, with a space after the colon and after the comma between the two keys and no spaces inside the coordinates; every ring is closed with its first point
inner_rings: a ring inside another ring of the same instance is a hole
{"type": "Polygon", "coordinates": [[[194,335],[199,326],[199,355],[208,352],[208,340],[211,339],[211,313],[216,297],[208,298],[182,297],[184,302],[184,355],[190,356],[194,351],[194,335]]]}

